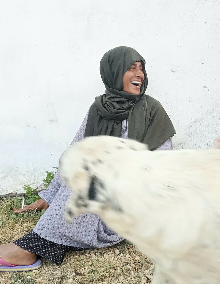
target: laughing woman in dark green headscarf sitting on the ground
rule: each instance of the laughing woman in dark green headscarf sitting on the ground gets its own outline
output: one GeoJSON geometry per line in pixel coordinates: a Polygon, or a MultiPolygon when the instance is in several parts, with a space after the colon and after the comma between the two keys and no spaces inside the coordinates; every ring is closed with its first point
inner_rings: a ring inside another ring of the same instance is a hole
{"type": "MultiPolygon", "coordinates": [[[[158,101],[145,95],[144,58],[133,48],[116,47],[101,59],[100,74],[105,94],[95,98],[72,144],[86,136],[109,135],[146,143],[151,151],[171,149],[175,134],[171,120],[158,101]]],[[[96,214],[83,214],[70,225],[65,223],[70,189],[59,171],[39,195],[37,202],[15,210],[47,209],[31,232],[0,246],[0,271],[36,269],[41,265],[39,257],[59,264],[69,250],[107,247],[123,240],[96,214]]]]}

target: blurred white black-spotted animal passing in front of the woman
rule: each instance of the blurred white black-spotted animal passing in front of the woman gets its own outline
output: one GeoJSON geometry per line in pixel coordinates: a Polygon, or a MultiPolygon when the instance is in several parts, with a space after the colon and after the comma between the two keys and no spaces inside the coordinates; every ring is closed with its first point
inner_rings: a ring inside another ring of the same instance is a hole
{"type": "Polygon", "coordinates": [[[60,168],[73,190],[66,220],[99,214],[155,262],[154,284],[219,284],[219,150],[151,152],[88,137],[64,152],[60,168]]]}

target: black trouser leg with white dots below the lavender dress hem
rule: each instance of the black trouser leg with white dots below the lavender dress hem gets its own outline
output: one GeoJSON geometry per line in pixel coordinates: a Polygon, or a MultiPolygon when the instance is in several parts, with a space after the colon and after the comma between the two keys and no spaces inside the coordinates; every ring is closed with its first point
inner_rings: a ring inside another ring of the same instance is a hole
{"type": "Polygon", "coordinates": [[[40,257],[47,258],[56,264],[63,262],[65,252],[83,250],[80,247],[69,247],[47,241],[38,236],[33,230],[15,241],[14,244],[28,252],[33,252],[40,257]]]}

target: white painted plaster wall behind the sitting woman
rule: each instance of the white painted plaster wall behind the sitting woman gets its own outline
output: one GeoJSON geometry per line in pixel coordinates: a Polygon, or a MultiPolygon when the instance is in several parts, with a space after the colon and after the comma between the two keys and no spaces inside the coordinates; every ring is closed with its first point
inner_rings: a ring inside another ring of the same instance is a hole
{"type": "Polygon", "coordinates": [[[40,184],[95,96],[99,63],[126,45],[146,59],[147,94],[177,134],[207,148],[220,135],[219,0],[1,0],[0,194],[40,184]]]}

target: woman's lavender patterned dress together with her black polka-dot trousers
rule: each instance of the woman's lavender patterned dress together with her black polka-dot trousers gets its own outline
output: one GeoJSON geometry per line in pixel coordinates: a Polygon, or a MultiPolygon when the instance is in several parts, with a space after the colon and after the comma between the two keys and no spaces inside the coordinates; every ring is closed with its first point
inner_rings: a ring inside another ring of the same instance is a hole
{"type": "MultiPolygon", "coordinates": [[[[88,113],[71,145],[84,138],[88,113]]],[[[121,137],[128,139],[126,124],[126,120],[122,121],[121,137]]],[[[168,150],[171,148],[172,142],[170,138],[157,150],[168,150]]],[[[70,192],[71,190],[61,180],[58,171],[49,187],[39,193],[39,196],[49,204],[49,208],[39,219],[36,227],[14,243],[55,263],[61,263],[64,253],[70,249],[80,250],[92,247],[107,247],[123,240],[94,213],[77,216],[70,225],[67,225],[64,221],[63,213],[70,192]]]]}

